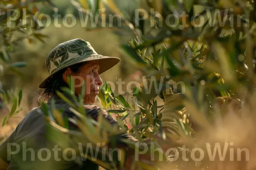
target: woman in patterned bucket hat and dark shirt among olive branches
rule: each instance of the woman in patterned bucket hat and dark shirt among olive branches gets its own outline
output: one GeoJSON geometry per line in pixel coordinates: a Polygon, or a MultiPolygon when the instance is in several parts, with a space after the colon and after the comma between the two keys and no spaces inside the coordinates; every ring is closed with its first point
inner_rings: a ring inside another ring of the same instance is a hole
{"type": "MultiPolygon", "coordinates": [[[[50,107],[53,99],[55,107],[63,110],[63,116],[72,118],[74,114],[69,110],[70,106],[58,97],[55,91],[61,91],[62,87],[66,87],[70,76],[75,82],[75,94],[79,96],[82,88],[81,82],[84,80],[86,82],[84,109],[87,115],[97,121],[99,114],[103,114],[111,125],[117,125],[118,122],[107,111],[92,104],[96,101],[99,87],[102,85],[102,79],[99,75],[112,68],[119,61],[120,59],[115,57],[105,57],[97,54],[89,42],[81,39],[61,43],[47,56],[46,66],[50,76],[39,85],[39,88],[41,88],[39,100],[47,102],[48,107],[50,107]]],[[[65,93],[63,94],[66,95],[65,93]]],[[[67,95],[66,97],[74,102],[72,97],[67,95]]],[[[54,170],[58,168],[61,170],[99,169],[99,165],[90,160],[83,160],[82,162],[78,159],[63,161],[63,157],[58,159],[55,157],[55,149],[58,148],[55,148],[54,144],[47,139],[47,125],[44,121],[44,114],[40,113],[42,111],[41,106],[30,111],[17,126],[16,130],[0,146],[0,169],[38,170],[42,167],[43,169],[54,170]],[[49,153],[49,150],[42,150],[42,148],[52,148],[51,153],[49,153]],[[49,155],[51,157],[47,159],[49,155]]],[[[172,118],[177,117],[172,116],[172,114],[175,115],[176,113],[163,112],[163,122],[165,122],[163,124],[169,129],[172,129],[173,126],[172,118]]],[[[76,129],[76,125],[72,122],[69,123],[70,128],[76,129]]],[[[128,148],[121,139],[133,142],[137,142],[137,140],[128,133],[114,136],[114,138],[118,147],[127,149],[125,169],[128,170],[132,165],[134,150],[128,148]]],[[[62,154],[60,155],[62,156],[62,154]]],[[[141,155],[141,159],[150,160],[147,155],[141,155]]]]}

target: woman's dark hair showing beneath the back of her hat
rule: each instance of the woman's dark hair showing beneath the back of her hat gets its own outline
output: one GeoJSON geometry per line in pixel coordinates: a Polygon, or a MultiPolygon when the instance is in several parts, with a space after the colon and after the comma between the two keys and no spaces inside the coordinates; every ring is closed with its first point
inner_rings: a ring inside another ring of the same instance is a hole
{"type": "MultiPolygon", "coordinates": [[[[87,62],[81,62],[75,65],[71,65],[68,68],[70,68],[73,73],[78,73],[80,71],[80,68],[84,66],[87,62]]],[[[56,74],[52,76],[52,78],[49,79],[49,81],[46,82],[46,88],[38,88],[37,94],[39,95],[38,97],[38,102],[41,104],[41,102],[48,102],[49,99],[55,95],[56,91],[61,91],[62,87],[68,87],[67,83],[64,82],[62,78],[62,74],[64,71],[66,71],[67,68],[64,68],[60,71],[58,71],[56,74]]]]}

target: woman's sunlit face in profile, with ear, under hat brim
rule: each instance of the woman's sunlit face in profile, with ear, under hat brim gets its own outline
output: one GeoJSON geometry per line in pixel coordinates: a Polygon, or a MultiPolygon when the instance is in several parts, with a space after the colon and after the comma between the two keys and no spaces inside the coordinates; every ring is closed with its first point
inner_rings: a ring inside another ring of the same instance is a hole
{"type": "MultiPolygon", "coordinates": [[[[75,93],[81,94],[82,82],[85,83],[84,103],[93,104],[96,102],[96,96],[99,94],[99,86],[102,85],[102,79],[99,76],[99,62],[90,61],[82,66],[78,73],[71,73],[71,78],[75,83],[75,93]]],[[[66,71],[71,71],[69,68],[66,71]]]]}

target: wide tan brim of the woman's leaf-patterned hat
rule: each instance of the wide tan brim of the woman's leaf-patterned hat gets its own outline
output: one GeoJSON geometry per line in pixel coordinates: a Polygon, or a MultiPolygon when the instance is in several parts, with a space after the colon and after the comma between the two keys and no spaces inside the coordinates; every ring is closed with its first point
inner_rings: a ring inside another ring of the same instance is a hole
{"type": "Polygon", "coordinates": [[[67,68],[71,65],[75,65],[75,64],[78,64],[78,63],[81,63],[81,62],[88,62],[88,61],[95,61],[95,60],[99,61],[99,66],[100,66],[99,74],[102,74],[102,73],[108,71],[109,69],[111,69],[113,66],[115,66],[116,64],[118,64],[120,62],[120,59],[116,58],[116,57],[107,57],[107,56],[102,56],[102,55],[99,55],[99,54],[92,55],[91,57],[88,57],[86,59],[82,59],[82,60],[77,61],[75,63],[65,65],[63,67],[58,68],[51,75],[49,75],[43,82],[41,82],[41,84],[38,87],[39,88],[47,88],[47,81],[49,81],[49,79],[51,79],[54,74],[56,74],[58,71],[60,71],[64,68],[67,68]]]}

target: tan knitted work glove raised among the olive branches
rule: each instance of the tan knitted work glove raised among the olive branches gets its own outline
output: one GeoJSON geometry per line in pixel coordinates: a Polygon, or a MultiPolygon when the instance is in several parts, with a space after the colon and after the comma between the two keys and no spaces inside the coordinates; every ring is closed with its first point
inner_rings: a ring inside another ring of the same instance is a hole
{"type": "Polygon", "coordinates": [[[172,88],[163,90],[164,108],[162,111],[162,127],[167,127],[174,134],[179,134],[177,124],[174,119],[181,119],[182,122],[186,121],[186,108],[180,108],[183,104],[181,94],[173,94],[172,88]],[[180,108],[177,110],[177,108],[180,108]]]}

